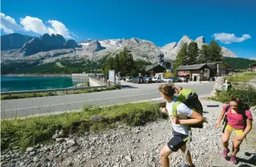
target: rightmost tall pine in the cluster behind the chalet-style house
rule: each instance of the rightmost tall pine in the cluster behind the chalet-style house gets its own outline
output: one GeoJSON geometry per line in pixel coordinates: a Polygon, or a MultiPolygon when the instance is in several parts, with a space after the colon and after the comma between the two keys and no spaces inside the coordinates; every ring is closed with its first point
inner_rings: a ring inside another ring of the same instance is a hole
{"type": "Polygon", "coordinates": [[[214,40],[212,40],[209,45],[209,55],[211,62],[222,61],[222,47],[214,40]]]}

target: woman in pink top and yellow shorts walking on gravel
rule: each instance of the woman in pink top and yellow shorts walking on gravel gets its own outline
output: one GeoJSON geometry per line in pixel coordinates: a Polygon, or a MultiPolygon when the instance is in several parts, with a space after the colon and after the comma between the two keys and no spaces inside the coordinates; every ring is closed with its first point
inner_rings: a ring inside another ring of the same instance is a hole
{"type": "Polygon", "coordinates": [[[224,150],[222,156],[227,158],[227,154],[230,152],[230,149],[228,149],[228,141],[230,140],[232,131],[234,131],[235,137],[233,139],[233,150],[230,156],[230,161],[236,164],[237,160],[235,155],[239,152],[239,147],[246,138],[246,135],[252,129],[252,114],[249,111],[249,107],[243,104],[241,98],[233,97],[230,98],[228,105],[223,106],[222,112],[216,123],[216,128],[220,127],[223,117],[224,128],[222,130],[222,144],[224,150]]]}

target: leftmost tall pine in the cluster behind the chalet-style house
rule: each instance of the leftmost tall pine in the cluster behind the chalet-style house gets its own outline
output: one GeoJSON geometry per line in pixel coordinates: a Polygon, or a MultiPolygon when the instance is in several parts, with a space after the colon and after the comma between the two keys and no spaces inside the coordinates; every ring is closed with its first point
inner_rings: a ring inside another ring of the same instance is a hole
{"type": "Polygon", "coordinates": [[[174,63],[174,69],[175,69],[175,75],[177,76],[177,68],[178,66],[183,66],[186,65],[186,58],[187,58],[187,48],[188,48],[188,44],[187,43],[183,43],[181,45],[180,51],[178,52],[178,55],[175,59],[175,63],[174,63]]]}

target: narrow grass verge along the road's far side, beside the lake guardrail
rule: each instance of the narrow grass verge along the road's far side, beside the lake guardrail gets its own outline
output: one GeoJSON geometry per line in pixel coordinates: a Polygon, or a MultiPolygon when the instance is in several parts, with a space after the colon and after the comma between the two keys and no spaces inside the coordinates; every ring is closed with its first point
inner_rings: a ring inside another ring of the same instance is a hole
{"type": "Polygon", "coordinates": [[[1,95],[1,100],[7,100],[7,99],[18,99],[18,98],[34,98],[34,97],[44,97],[44,96],[60,96],[60,95],[70,95],[70,94],[79,94],[79,93],[92,93],[92,92],[101,92],[106,90],[115,90],[120,89],[119,85],[112,86],[110,88],[101,88],[101,89],[89,89],[89,90],[69,90],[67,93],[65,91],[59,91],[59,92],[51,92],[51,93],[26,93],[26,94],[14,94],[12,96],[9,95],[1,95]]]}

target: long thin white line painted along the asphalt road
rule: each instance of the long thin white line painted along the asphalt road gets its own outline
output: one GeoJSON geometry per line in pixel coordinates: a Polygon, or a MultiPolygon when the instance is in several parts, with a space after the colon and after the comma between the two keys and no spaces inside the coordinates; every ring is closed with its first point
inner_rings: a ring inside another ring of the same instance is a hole
{"type": "MultiPolygon", "coordinates": [[[[132,97],[132,96],[142,96],[142,95],[150,95],[150,94],[156,94],[159,92],[155,93],[144,93],[144,94],[138,94],[138,95],[129,95],[129,96],[120,96],[120,97],[114,97],[114,98],[127,98],[127,97],[132,97]]],[[[103,101],[103,100],[109,100],[109,99],[114,99],[114,98],[101,98],[101,99],[95,99],[95,100],[87,100],[87,101],[75,101],[75,102],[70,102],[70,103],[63,103],[63,104],[49,104],[45,106],[59,106],[59,105],[64,105],[64,104],[78,104],[82,102],[89,102],[89,101],[103,101]]],[[[45,107],[45,106],[31,106],[31,107],[26,107],[26,108],[20,108],[20,109],[34,109],[37,107],[45,107]]],[[[3,112],[8,112],[8,111],[15,111],[17,109],[5,109],[3,112]]]]}

